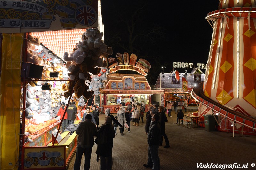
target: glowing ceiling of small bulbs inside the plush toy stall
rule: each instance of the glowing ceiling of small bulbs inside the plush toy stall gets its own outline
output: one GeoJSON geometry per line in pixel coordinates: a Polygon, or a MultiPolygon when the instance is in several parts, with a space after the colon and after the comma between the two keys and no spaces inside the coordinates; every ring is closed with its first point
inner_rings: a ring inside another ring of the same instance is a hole
{"type": "Polygon", "coordinates": [[[57,31],[44,31],[30,33],[34,37],[39,37],[41,43],[50,49],[55,55],[63,59],[65,52],[71,54],[76,47],[76,43],[81,41],[82,34],[86,29],[70,29],[57,31]]]}

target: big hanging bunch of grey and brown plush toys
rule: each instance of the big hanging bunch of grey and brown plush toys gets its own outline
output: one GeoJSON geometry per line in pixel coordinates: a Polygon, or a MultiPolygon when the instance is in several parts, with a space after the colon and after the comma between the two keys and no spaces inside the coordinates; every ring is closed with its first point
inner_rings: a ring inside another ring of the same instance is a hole
{"type": "Polygon", "coordinates": [[[106,61],[100,58],[107,58],[108,55],[113,53],[111,47],[107,47],[102,42],[103,33],[98,28],[89,28],[82,35],[82,41],[79,41],[76,48],[73,49],[73,53],[64,53],[63,59],[67,61],[67,68],[69,81],[67,85],[62,87],[64,97],[72,95],[72,90],[75,92],[76,98],[80,98],[82,95],[89,99],[92,97],[94,91],[89,91],[86,80],[92,81],[89,73],[97,75],[100,73],[100,67],[106,67],[106,61]]]}

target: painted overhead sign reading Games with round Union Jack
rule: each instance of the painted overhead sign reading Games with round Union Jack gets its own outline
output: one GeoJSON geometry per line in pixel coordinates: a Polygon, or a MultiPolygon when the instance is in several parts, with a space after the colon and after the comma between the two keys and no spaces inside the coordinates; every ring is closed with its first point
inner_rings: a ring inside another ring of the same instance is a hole
{"type": "Polygon", "coordinates": [[[0,6],[1,33],[98,27],[97,0],[6,0],[0,6]]]}

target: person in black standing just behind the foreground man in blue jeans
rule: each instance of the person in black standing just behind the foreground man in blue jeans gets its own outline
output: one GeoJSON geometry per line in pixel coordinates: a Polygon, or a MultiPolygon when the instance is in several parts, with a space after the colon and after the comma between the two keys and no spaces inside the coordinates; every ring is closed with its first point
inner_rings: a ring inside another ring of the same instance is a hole
{"type": "Polygon", "coordinates": [[[163,106],[159,106],[158,107],[159,110],[159,120],[160,120],[160,128],[161,128],[161,138],[160,138],[160,144],[159,146],[162,146],[163,143],[163,136],[164,136],[164,140],[165,140],[165,146],[164,148],[170,148],[170,144],[169,144],[169,140],[167,135],[165,134],[165,112],[164,112],[164,107],[163,106]]]}

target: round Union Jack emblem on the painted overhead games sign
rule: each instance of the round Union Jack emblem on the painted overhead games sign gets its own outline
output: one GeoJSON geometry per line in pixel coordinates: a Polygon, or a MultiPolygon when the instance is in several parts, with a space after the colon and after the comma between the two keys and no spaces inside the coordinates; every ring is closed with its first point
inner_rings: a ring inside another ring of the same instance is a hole
{"type": "Polygon", "coordinates": [[[76,11],[76,20],[83,26],[91,26],[94,24],[97,16],[97,12],[88,5],[83,5],[76,11]]]}

